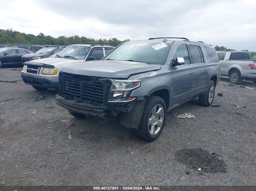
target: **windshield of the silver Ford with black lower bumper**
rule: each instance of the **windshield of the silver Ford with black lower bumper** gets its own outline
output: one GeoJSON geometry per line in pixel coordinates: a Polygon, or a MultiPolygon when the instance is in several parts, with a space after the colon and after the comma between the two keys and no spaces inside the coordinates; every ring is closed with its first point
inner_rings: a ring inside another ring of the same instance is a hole
{"type": "Polygon", "coordinates": [[[65,57],[65,58],[75,58],[83,60],[87,56],[91,47],[88,46],[75,46],[70,45],[63,49],[58,56],[65,57]]]}

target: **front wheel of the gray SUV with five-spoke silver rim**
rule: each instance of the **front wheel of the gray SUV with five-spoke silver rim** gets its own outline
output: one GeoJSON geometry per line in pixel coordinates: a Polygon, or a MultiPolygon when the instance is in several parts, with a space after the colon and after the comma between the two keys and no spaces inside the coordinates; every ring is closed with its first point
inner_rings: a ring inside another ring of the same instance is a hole
{"type": "Polygon", "coordinates": [[[165,126],[166,106],[165,101],[158,96],[149,96],[146,100],[141,116],[137,135],[144,141],[156,140],[165,126]]]}

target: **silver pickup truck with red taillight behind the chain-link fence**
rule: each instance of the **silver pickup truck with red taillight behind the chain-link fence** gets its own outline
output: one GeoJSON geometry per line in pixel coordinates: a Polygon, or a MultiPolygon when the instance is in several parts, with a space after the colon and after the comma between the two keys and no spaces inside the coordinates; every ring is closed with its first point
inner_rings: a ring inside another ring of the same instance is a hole
{"type": "Polygon", "coordinates": [[[256,60],[245,51],[217,51],[221,63],[221,75],[228,76],[231,83],[239,84],[242,80],[256,83],[256,60]]]}

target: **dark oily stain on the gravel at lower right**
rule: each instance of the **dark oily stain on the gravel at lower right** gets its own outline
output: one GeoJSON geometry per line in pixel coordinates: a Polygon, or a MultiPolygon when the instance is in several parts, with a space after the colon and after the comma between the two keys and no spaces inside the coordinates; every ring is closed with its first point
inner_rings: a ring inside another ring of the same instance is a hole
{"type": "Polygon", "coordinates": [[[185,166],[193,170],[198,170],[201,168],[201,171],[204,173],[226,172],[226,166],[222,159],[219,161],[214,154],[202,149],[178,150],[175,153],[175,160],[185,164],[185,166]]]}

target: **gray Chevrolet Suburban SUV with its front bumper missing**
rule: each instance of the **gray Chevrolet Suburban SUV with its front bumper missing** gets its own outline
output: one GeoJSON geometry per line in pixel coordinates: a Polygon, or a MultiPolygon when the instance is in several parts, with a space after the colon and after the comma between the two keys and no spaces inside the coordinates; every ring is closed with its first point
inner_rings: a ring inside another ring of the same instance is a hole
{"type": "Polygon", "coordinates": [[[148,142],[161,134],[166,112],[199,97],[210,106],[220,81],[215,49],[186,38],[122,43],[99,61],[64,66],[58,105],[78,118],[115,120],[148,142]]]}

